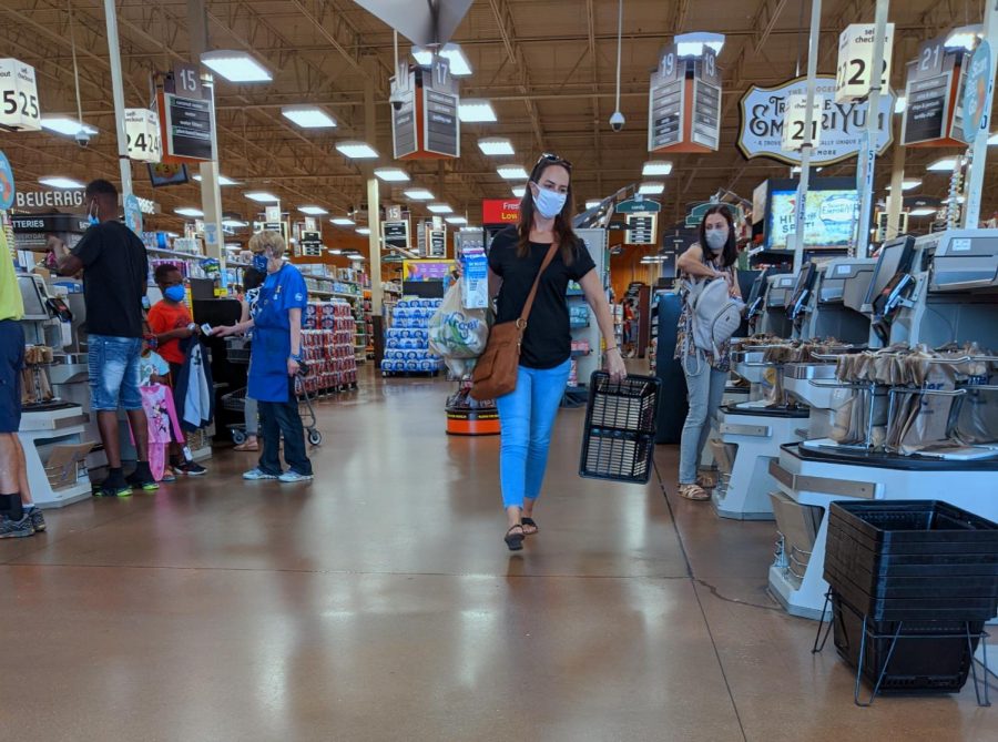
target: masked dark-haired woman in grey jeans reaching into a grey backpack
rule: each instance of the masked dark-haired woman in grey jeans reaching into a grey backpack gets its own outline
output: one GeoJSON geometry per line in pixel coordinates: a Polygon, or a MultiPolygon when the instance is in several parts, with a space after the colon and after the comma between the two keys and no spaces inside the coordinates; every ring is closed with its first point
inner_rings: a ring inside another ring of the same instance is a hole
{"type": "Polygon", "coordinates": [[[729,295],[741,298],[737,270],[739,248],[734,220],[727,206],[711,206],[700,223],[700,241],[693,243],[676,261],[681,282],[683,312],[680,315],[675,358],[683,365],[690,411],[683,425],[680,445],[679,494],[688,500],[709,500],[706,491],[713,482],[697,477],[700,457],[711,431],[710,420],[721,406],[727,375],[731,372],[731,343],[724,342],[717,353],[703,350],[693,343],[691,289],[711,281],[725,281],[729,295]]]}

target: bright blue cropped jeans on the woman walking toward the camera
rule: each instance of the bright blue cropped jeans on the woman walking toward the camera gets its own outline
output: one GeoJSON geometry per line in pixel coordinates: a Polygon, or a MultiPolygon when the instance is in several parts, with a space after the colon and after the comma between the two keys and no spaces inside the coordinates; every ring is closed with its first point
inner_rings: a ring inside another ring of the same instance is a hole
{"type": "Polygon", "coordinates": [[[571,359],[554,368],[520,366],[515,392],[499,397],[501,446],[499,482],[503,507],[523,507],[540,496],[558,406],[572,369],[571,359]]]}

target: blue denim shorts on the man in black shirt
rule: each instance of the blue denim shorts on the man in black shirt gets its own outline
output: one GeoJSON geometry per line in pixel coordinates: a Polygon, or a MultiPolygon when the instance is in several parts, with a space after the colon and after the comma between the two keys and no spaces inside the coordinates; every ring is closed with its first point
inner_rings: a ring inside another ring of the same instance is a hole
{"type": "Polygon", "coordinates": [[[139,392],[141,337],[89,335],[90,408],[93,411],[142,409],[139,392]]]}

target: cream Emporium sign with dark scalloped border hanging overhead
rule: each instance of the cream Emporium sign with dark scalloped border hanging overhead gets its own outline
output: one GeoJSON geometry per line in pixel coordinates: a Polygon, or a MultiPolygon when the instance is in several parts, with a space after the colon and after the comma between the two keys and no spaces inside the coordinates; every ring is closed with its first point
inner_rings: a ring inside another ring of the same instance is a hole
{"type": "MultiPolygon", "coordinates": [[[[801,163],[800,152],[783,149],[783,126],[790,96],[806,94],[807,78],[797,78],[775,88],[753,85],[742,95],[739,149],[745,159],[770,157],[787,164],[801,163]]],[[[815,95],[824,102],[821,142],[811,153],[811,164],[829,165],[855,157],[866,133],[868,102],[836,103],[835,78],[832,75],[817,77],[815,95]]],[[[890,129],[894,103],[894,92],[880,96],[879,154],[890,145],[894,136],[890,129]]]]}

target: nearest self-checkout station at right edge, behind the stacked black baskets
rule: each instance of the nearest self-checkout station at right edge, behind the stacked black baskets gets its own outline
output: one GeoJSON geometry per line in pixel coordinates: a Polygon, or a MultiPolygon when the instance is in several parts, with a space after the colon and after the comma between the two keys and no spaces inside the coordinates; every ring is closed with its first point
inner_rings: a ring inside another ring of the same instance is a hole
{"type": "MultiPolygon", "coordinates": [[[[982,375],[959,380],[953,389],[933,385],[899,386],[880,383],[848,385],[811,379],[816,393],[839,398],[863,398],[870,410],[865,439],[853,444],[829,438],[783,445],[768,471],[777,488],[780,512],[776,559],[770,567],[771,593],[794,616],[819,618],[828,589],[823,579],[828,506],[846,499],[943,499],[991,520],[998,520],[998,359],[986,355],[998,348],[998,230],[950,230],[917,240],[902,237],[884,245],[862,302],[846,289],[845,301],[870,318],[869,344],[897,343],[939,348],[949,344],[979,344],[965,357],[930,360],[957,367],[974,364],[982,375]],[[865,396],[865,397],[864,397],[865,396]],[[934,399],[945,419],[946,437],[963,438],[954,426],[960,405],[975,405],[982,421],[976,440],[920,447],[905,451],[873,435],[874,411],[892,416],[905,400],[921,414],[934,399]],[[948,413],[948,414],[947,414],[948,413]]],[[[889,352],[889,349],[888,349],[889,352]]],[[[963,352],[961,352],[963,353],[963,352]]],[[[959,356],[959,354],[956,354],[959,356]]]]}

